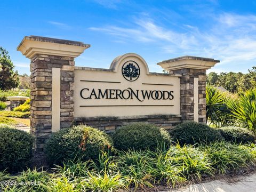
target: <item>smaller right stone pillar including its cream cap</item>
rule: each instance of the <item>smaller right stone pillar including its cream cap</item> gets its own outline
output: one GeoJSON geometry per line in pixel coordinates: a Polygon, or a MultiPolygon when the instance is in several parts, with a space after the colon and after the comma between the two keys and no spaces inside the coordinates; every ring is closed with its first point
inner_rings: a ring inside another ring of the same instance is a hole
{"type": "Polygon", "coordinates": [[[157,63],[180,77],[180,114],[182,122],[206,123],[206,70],[220,62],[210,58],[184,56],[157,63]]]}

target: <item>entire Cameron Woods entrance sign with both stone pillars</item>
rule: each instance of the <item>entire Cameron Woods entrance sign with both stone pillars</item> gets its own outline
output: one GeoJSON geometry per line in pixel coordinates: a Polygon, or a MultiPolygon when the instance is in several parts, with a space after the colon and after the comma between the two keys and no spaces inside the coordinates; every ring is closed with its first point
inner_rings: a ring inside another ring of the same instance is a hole
{"type": "Polygon", "coordinates": [[[52,132],[86,124],[105,132],[143,122],[172,129],[206,122],[206,69],[219,62],[184,56],[157,63],[168,74],[150,73],[138,54],[114,59],[109,69],[76,67],[89,44],[26,36],[17,50],[31,60],[30,132],[44,150],[52,132]]]}

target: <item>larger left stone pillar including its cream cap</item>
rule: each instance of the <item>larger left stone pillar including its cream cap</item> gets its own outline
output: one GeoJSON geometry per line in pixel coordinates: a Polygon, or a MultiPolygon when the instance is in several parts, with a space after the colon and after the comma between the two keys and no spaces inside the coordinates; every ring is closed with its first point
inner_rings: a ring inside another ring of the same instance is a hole
{"type": "Polygon", "coordinates": [[[31,60],[30,133],[41,152],[52,132],[74,121],[74,59],[90,45],[29,36],[17,50],[31,60]]]}

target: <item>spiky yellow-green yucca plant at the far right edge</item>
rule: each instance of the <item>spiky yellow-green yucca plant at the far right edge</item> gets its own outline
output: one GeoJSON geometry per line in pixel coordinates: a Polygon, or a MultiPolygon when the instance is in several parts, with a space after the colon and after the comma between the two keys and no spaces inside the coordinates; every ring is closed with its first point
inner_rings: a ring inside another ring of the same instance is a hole
{"type": "Polygon", "coordinates": [[[256,133],[256,88],[247,90],[228,102],[233,116],[256,133]]]}

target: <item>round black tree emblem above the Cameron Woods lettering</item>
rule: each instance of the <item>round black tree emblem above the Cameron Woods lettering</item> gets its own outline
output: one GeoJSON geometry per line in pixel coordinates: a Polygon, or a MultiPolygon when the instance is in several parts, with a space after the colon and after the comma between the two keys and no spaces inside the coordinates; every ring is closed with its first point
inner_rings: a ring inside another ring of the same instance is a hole
{"type": "Polygon", "coordinates": [[[127,81],[135,81],[140,76],[140,67],[134,61],[126,61],[122,67],[122,74],[127,81]]]}

